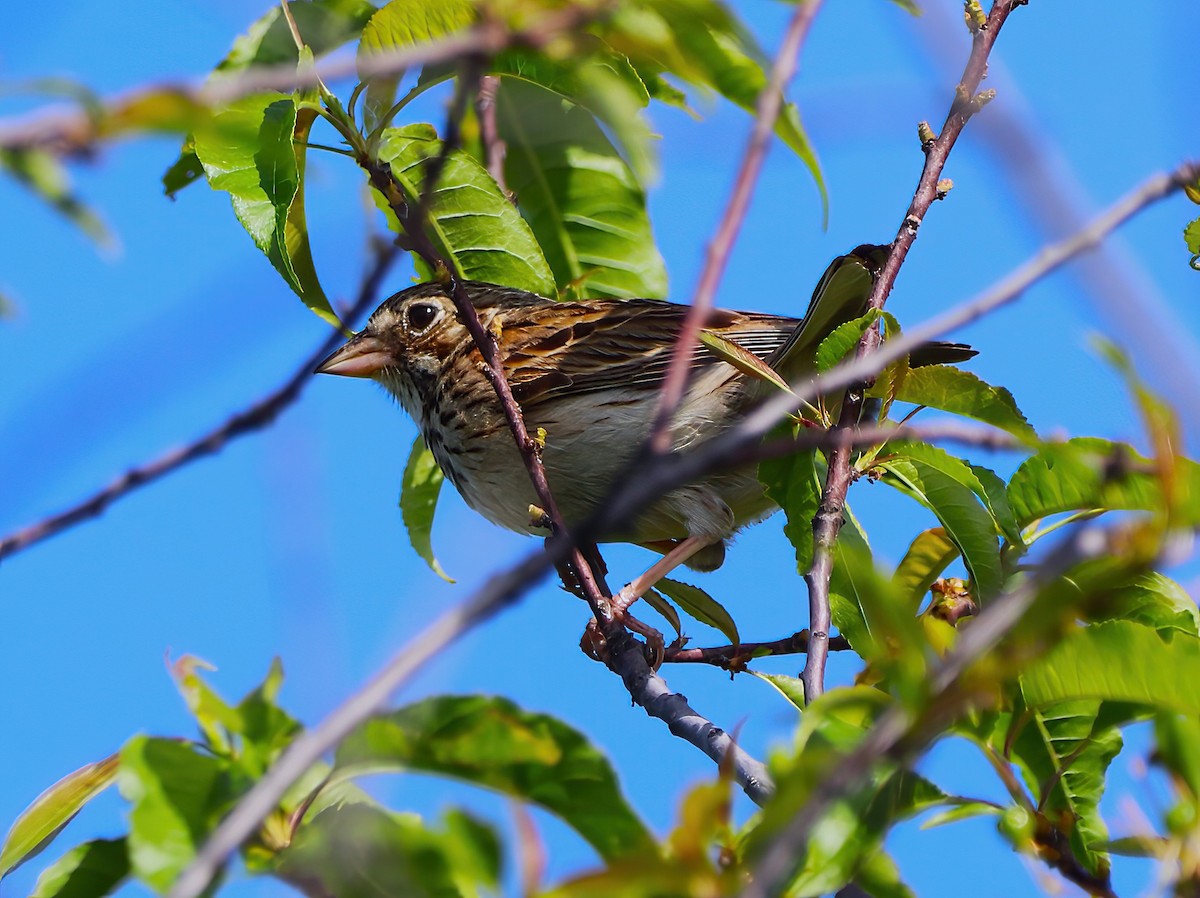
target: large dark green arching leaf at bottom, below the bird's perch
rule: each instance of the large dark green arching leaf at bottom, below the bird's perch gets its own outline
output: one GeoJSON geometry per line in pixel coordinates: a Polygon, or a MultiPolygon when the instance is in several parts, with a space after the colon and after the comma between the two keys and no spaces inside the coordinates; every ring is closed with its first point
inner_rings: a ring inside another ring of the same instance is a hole
{"type": "Polygon", "coordinates": [[[538,804],[605,860],[653,850],[612,767],[586,737],[505,699],[443,696],[379,714],[342,742],[335,762],[350,776],[406,768],[538,804]]]}

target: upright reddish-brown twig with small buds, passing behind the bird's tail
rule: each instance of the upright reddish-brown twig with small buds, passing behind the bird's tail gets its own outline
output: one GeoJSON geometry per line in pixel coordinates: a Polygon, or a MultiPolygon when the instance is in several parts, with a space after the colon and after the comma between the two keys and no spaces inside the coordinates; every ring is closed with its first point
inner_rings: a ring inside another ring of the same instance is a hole
{"type": "MultiPolygon", "coordinates": [[[[941,133],[923,148],[925,150],[925,166],[917,182],[912,202],[908,204],[908,211],[896,233],[896,239],[892,243],[888,258],[872,285],[869,300],[871,309],[882,309],[887,301],[896,275],[900,273],[900,267],[908,253],[908,247],[917,239],[917,228],[920,227],[925,214],[938,197],[937,185],[950,150],[954,149],[967,120],[986,102],[986,98],[977,95],[976,91],[979,90],[979,83],[988,71],[988,55],[1000,36],[1004,19],[1008,18],[1008,13],[1014,6],[1013,0],[996,0],[988,14],[986,23],[974,31],[971,55],[967,58],[966,68],[954,90],[954,100],[950,103],[949,113],[947,113],[946,124],[942,126],[941,133]]],[[[858,343],[857,357],[865,358],[878,345],[878,327],[868,329],[858,343]]],[[[842,399],[838,427],[854,426],[862,409],[862,390],[857,385],[852,385],[842,399]]],[[[838,533],[841,531],[842,509],[846,505],[846,493],[852,479],[850,447],[835,447],[827,461],[828,473],[826,474],[824,489],[821,492],[817,514],[812,519],[812,565],[804,576],[809,588],[809,627],[812,630],[812,646],[805,658],[804,672],[800,675],[808,701],[814,701],[824,692],[824,671],[828,660],[826,640],[829,637],[830,627],[829,575],[833,570],[833,547],[838,541],[838,533]]]]}

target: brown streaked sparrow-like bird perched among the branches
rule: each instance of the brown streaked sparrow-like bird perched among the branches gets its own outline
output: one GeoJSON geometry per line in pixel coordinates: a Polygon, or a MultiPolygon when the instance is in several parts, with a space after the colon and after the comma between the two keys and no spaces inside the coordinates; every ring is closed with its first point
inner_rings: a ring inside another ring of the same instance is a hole
{"type": "MultiPolygon", "coordinates": [[[[673,418],[672,451],[704,443],[738,421],[764,395],[736,354],[754,357],[784,378],[811,373],[821,341],[862,316],[887,247],[839,256],[822,276],[803,318],[714,310],[710,339],[688,355],[689,378],[673,418]],[[707,343],[707,345],[706,345],[707,343]],[[721,349],[721,347],[726,349],[721,349]],[[714,348],[715,347],[715,348],[714,348]]],[[[560,301],[522,289],[462,281],[479,321],[497,340],[504,375],[529,433],[542,436],[551,492],[568,526],[587,520],[652,429],[659,393],[688,306],[659,299],[560,301]]],[[[317,373],[371,378],[416,423],[446,479],[484,517],[538,533],[538,497],[484,360],[440,282],[386,299],[366,327],[317,366],[317,373]]],[[[912,364],[959,361],[974,351],[929,343],[912,364]]],[[[601,541],[636,543],[664,553],[622,592],[625,605],[674,567],[719,567],[733,534],[776,510],[755,466],[719,471],[678,486],[601,541]]]]}

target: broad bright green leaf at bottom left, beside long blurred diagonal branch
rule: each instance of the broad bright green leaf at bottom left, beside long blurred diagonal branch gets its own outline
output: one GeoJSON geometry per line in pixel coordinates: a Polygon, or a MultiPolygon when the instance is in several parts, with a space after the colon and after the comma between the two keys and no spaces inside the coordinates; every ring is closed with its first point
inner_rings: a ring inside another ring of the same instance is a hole
{"type": "Polygon", "coordinates": [[[133,874],[166,892],[232,800],[227,764],[173,740],[134,736],[121,749],[118,786],[130,810],[133,874]]]}

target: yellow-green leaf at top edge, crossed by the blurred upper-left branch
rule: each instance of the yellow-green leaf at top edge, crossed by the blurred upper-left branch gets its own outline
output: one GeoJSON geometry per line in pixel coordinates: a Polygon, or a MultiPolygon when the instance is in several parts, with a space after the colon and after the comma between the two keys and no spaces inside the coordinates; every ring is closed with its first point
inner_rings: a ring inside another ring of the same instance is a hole
{"type": "MultiPolygon", "coordinates": [[[[360,77],[366,74],[365,70],[370,67],[372,58],[462,31],[475,18],[475,10],[469,0],[391,0],[384,4],[362,29],[358,52],[360,77]]],[[[449,68],[449,72],[452,71],[449,68]]],[[[362,103],[362,124],[366,131],[374,130],[383,121],[402,77],[401,71],[386,77],[364,77],[367,80],[362,103]]]]}

